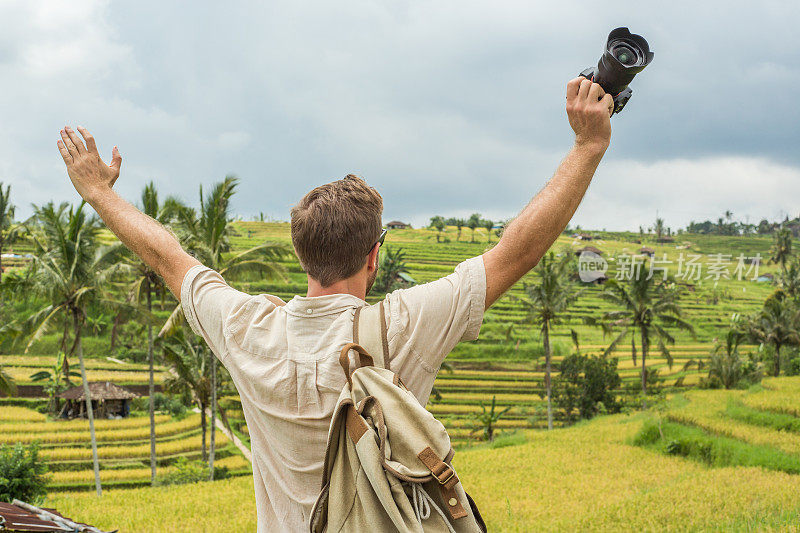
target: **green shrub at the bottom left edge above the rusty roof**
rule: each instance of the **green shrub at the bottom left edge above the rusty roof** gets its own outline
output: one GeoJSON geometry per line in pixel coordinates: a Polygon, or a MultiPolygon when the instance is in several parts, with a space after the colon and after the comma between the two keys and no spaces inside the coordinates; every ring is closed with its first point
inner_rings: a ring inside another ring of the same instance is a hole
{"type": "Polygon", "coordinates": [[[47,495],[47,465],[39,460],[39,444],[0,445],[0,501],[14,498],[39,503],[47,495]]]}

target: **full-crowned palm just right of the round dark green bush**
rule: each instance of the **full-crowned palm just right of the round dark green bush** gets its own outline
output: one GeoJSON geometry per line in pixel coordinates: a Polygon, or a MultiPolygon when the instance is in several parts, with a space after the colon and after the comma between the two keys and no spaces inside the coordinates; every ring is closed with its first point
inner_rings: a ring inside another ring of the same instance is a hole
{"type": "MultiPolygon", "coordinates": [[[[667,327],[677,327],[694,335],[692,325],[684,320],[678,304],[678,288],[674,283],[657,282],[656,277],[633,276],[627,283],[612,279],[606,283],[601,297],[618,307],[616,311],[603,314],[604,332],[619,329],[620,333],[606,348],[604,355],[610,354],[628,335],[631,339],[638,331],[642,349],[642,406],[647,408],[647,354],[655,341],[661,355],[667,359],[672,368],[672,354],[667,344],[674,344],[675,339],[667,331],[667,327]]],[[[635,350],[635,346],[633,346],[635,350]]],[[[633,354],[634,364],[636,355],[633,354]]]]}

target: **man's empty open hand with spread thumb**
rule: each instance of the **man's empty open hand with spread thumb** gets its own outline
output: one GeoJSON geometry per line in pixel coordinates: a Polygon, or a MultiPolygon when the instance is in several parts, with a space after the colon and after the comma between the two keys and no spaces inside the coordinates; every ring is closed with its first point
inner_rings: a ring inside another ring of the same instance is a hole
{"type": "Polygon", "coordinates": [[[100,154],[97,153],[97,145],[86,128],[78,126],[83,140],[78,137],[72,128],[65,126],[61,130],[61,140],[58,141],[58,151],[64,158],[67,165],[67,174],[72,180],[72,185],[78,194],[91,203],[92,199],[102,194],[104,191],[111,190],[114,182],[119,177],[119,168],[122,165],[122,156],[115,146],[111,151],[111,164],[106,165],[100,154]],[[83,141],[86,141],[84,145],[83,141]]]}

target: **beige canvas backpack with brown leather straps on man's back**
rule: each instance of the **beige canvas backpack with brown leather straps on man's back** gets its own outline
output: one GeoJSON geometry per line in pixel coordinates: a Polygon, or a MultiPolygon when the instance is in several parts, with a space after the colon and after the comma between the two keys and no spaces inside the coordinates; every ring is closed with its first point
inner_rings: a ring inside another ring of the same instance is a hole
{"type": "Polygon", "coordinates": [[[356,308],[310,531],[485,533],[451,465],[447,430],[386,368],[388,359],[383,302],[356,308]]]}

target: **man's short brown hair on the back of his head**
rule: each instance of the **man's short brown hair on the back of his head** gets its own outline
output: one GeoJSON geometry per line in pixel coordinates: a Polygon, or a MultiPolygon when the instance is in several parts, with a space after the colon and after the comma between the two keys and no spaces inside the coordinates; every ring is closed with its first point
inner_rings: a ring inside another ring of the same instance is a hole
{"type": "Polygon", "coordinates": [[[323,287],[364,266],[381,233],[383,198],[358,176],[320,185],[292,208],[292,244],[303,270],[323,287]]]}

